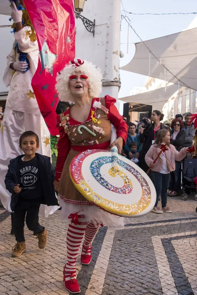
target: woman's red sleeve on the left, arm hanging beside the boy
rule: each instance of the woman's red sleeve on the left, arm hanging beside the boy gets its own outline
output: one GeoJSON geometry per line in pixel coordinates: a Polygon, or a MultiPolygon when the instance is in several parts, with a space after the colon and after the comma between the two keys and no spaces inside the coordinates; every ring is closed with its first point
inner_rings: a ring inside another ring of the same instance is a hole
{"type": "MultiPolygon", "coordinates": [[[[57,123],[58,126],[60,124],[61,120],[60,120],[60,116],[57,116],[57,123]]],[[[57,148],[58,148],[58,158],[57,158],[57,164],[56,164],[56,177],[55,179],[57,181],[60,181],[60,177],[61,177],[61,173],[66,161],[66,157],[68,155],[68,152],[71,148],[71,143],[70,140],[68,138],[68,135],[65,133],[65,129],[62,126],[58,127],[59,131],[60,131],[60,138],[57,144],[57,148]]]]}

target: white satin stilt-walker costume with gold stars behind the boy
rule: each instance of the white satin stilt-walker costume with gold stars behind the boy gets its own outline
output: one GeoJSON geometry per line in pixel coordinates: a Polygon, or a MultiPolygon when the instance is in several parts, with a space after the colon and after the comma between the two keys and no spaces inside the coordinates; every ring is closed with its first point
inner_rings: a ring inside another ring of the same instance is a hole
{"type": "MultiPolygon", "coordinates": [[[[3,82],[9,87],[3,121],[0,127],[0,201],[8,211],[10,208],[10,194],[5,189],[4,179],[10,159],[21,154],[19,148],[20,135],[28,130],[35,132],[39,137],[38,153],[51,156],[50,133],[39,111],[36,98],[31,86],[32,78],[38,63],[37,40],[31,41],[31,27],[24,27],[15,32],[15,42],[11,53],[7,56],[7,67],[3,82]],[[10,69],[10,64],[19,60],[16,43],[21,52],[27,53],[30,69],[21,72],[10,69]]],[[[40,206],[40,215],[48,216],[58,207],[40,206]]]]}

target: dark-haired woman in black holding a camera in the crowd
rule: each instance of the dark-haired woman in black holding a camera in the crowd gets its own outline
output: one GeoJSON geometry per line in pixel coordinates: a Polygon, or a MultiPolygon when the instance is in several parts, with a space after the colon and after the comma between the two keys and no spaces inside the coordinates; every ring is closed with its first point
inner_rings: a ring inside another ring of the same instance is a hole
{"type": "Polygon", "coordinates": [[[159,130],[166,128],[163,123],[160,123],[163,120],[164,115],[160,111],[153,111],[151,114],[151,121],[148,118],[143,118],[143,125],[141,126],[141,131],[139,135],[139,141],[143,144],[140,152],[140,167],[144,172],[147,172],[149,167],[145,162],[145,155],[152,144],[155,142],[156,134],[159,130]]]}

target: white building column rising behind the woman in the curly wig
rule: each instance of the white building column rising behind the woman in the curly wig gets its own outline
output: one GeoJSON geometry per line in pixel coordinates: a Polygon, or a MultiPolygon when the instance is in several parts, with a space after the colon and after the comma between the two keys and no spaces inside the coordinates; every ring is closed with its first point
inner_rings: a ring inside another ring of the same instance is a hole
{"type": "Polygon", "coordinates": [[[96,22],[95,37],[80,19],[76,20],[76,58],[98,65],[103,74],[103,90],[118,98],[120,56],[120,0],[87,0],[81,15],[96,22]]]}

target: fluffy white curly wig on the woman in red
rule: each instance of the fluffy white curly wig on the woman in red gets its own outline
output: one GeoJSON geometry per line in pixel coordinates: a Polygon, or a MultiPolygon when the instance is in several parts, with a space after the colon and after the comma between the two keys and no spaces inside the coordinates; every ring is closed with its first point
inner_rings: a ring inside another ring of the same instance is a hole
{"type": "Polygon", "coordinates": [[[89,83],[89,94],[92,97],[99,97],[102,89],[102,74],[100,69],[92,64],[91,62],[84,60],[84,63],[78,67],[71,64],[66,65],[66,67],[57,75],[56,78],[56,90],[58,91],[59,98],[63,101],[74,102],[72,92],[69,88],[69,77],[71,75],[81,72],[82,74],[88,76],[89,83]]]}

